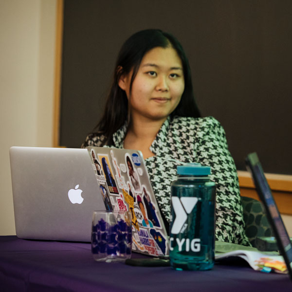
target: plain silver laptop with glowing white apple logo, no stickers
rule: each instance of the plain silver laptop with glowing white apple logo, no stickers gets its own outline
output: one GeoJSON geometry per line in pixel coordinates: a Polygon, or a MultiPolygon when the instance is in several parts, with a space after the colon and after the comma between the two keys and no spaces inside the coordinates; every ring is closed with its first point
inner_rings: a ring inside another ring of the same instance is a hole
{"type": "Polygon", "coordinates": [[[93,210],[105,210],[87,149],[11,147],[16,234],[91,241],[93,210]]]}

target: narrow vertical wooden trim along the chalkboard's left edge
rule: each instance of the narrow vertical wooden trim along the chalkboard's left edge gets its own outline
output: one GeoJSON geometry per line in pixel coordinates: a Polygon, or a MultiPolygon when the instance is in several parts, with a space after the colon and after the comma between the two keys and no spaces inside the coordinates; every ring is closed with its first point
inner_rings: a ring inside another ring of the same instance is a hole
{"type": "Polygon", "coordinates": [[[64,0],[57,0],[56,5],[56,34],[55,34],[55,82],[54,82],[54,125],[53,146],[59,146],[60,133],[60,95],[62,71],[62,43],[63,43],[63,13],[64,0]]]}

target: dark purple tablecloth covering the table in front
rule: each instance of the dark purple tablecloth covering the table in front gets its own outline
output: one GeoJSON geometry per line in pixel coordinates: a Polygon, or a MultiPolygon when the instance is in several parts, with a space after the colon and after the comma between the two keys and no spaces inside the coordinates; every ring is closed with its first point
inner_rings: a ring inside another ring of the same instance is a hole
{"type": "MultiPolygon", "coordinates": [[[[144,257],[133,254],[132,257],[144,257]]],[[[95,262],[87,243],[0,237],[0,291],[292,291],[288,275],[216,264],[205,272],[95,262]]]]}

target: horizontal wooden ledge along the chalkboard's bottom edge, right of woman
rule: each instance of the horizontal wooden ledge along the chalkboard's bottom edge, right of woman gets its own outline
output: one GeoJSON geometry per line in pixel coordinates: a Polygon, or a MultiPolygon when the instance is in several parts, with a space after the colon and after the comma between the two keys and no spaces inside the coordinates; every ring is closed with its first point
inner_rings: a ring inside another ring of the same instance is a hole
{"type": "MultiPolygon", "coordinates": [[[[253,179],[248,171],[237,171],[239,186],[255,188],[253,179]]],[[[271,190],[292,192],[292,175],[266,173],[271,190]]]]}

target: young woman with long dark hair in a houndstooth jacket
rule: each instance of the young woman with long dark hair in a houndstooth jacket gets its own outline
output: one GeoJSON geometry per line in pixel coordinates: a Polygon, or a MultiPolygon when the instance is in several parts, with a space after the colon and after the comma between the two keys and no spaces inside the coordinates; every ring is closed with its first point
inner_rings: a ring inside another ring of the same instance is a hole
{"type": "Polygon", "coordinates": [[[250,245],[224,129],[213,117],[201,118],[187,57],[172,35],[149,29],[128,38],[118,55],[104,115],[82,146],[142,151],[166,222],[177,165],[211,166],[217,184],[216,239],[250,245]]]}

